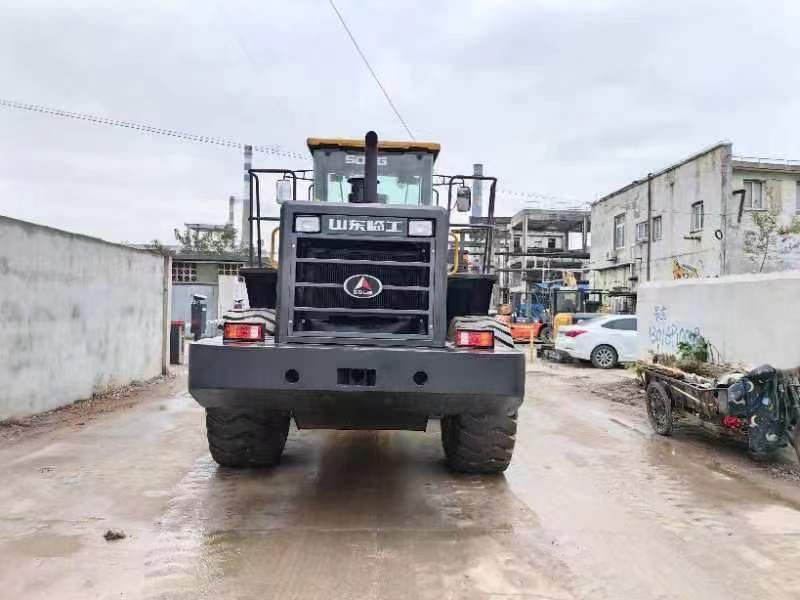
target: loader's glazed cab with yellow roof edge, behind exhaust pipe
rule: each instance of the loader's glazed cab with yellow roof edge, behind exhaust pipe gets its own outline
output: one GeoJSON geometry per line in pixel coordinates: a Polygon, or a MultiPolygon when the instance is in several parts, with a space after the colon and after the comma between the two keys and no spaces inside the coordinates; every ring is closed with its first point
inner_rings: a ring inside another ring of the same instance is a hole
{"type": "MultiPolygon", "coordinates": [[[[314,159],[314,202],[364,203],[364,140],[309,138],[308,149],[314,159]]],[[[433,164],[438,154],[439,144],[380,142],[378,203],[433,204],[433,164]]]]}

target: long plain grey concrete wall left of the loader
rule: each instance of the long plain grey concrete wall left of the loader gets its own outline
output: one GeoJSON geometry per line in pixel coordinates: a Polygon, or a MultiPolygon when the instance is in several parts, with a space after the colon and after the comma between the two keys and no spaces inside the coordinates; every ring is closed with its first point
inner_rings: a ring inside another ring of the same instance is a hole
{"type": "Polygon", "coordinates": [[[165,369],[169,259],[0,216],[0,419],[165,369]]]}

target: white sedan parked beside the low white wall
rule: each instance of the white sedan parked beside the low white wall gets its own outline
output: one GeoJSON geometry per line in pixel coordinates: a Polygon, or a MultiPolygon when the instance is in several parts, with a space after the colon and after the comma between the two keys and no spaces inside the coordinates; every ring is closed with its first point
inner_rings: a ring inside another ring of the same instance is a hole
{"type": "Polygon", "coordinates": [[[604,315],[558,328],[556,350],[598,369],[636,360],[636,316],[604,315]]]}

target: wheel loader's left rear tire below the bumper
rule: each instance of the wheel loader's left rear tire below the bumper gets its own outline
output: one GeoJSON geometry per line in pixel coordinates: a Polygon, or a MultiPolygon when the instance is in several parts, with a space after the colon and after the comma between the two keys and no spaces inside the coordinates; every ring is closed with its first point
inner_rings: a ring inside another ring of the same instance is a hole
{"type": "Polygon", "coordinates": [[[212,458],[222,467],[272,467],[280,462],[289,415],[276,411],[207,408],[212,458]]]}

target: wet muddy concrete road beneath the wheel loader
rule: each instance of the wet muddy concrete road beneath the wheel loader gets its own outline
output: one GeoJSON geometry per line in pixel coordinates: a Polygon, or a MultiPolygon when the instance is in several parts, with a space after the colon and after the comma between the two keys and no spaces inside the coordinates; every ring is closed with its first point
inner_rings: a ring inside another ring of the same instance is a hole
{"type": "Polygon", "coordinates": [[[182,380],[0,442],[0,598],[797,598],[800,470],[754,463],[534,363],[505,477],[427,433],[292,431],[218,469],[182,380]],[[125,539],[108,542],[108,529],[125,539]]]}

